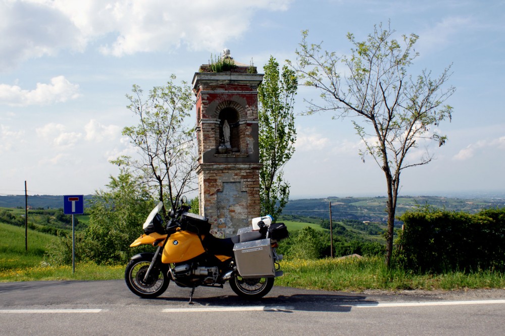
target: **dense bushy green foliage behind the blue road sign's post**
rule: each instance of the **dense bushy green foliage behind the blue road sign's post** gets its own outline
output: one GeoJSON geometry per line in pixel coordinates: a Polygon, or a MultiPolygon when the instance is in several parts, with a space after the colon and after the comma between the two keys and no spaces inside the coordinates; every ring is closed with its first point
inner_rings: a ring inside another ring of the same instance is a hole
{"type": "MultiPolygon", "coordinates": [[[[76,259],[97,264],[126,263],[136,253],[130,244],[142,234],[142,223],[154,207],[150,192],[128,171],[110,177],[107,190],[89,200],[89,225],[76,233],[76,259]]],[[[72,237],[62,237],[48,249],[49,263],[72,262],[72,237]]]]}

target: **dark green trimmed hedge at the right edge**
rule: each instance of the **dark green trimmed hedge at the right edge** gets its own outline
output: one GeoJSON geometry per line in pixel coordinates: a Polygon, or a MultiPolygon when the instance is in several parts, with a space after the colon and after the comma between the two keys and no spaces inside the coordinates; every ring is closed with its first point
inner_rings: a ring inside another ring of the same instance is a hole
{"type": "Polygon", "coordinates": [[[416,271],[503,270],[505,208],[478,214],[423,208],[400,217],[397,260],[416,271]]]}

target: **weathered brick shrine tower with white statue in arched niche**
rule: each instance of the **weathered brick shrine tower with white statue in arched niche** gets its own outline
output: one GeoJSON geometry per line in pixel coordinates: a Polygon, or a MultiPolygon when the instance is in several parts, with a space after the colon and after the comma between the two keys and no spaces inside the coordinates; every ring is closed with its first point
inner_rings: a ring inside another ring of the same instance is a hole
{"type": "MultiPolygon", "coordinates": [[[[208,72],[193,77],[196,95],[199,212],[219,236],[232,236],[260,215],[258,85],[263,74],[208,72]]],[[[249,71],[250,72],[250,71],[249,71]]]]}

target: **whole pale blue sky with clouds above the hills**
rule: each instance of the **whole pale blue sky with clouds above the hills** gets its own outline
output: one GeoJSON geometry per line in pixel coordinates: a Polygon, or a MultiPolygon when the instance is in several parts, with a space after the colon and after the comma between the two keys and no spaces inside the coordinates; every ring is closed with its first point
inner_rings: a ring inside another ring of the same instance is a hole
{"type": "MultiPolygon", "coordinates": [[[[126,109],[133,84],[191,81],[223,48],[262,71],[270,55],[294,60],[301,30],[311,42],[349,53],[346,33],[364,40],[390,21],[398,37],[419,35],[411,68],[440,74],[452,64],[435,161],[406,170],[402,195],[505,191],[504,1],[107,1],[0,0],[0,194],[89,194],[104,188],[109,163],[133,153],[122,137],[136,124],[126,109]]],[[[300,87],[304,99],[317,98],[300,87]]],[[[192,121],[191,121],[192,122],[192,121]]],[[[296,152],[285,166],[292,198],[385,194],[383,173],[358,155],[350,120],[297,116],[296,152]]]]}

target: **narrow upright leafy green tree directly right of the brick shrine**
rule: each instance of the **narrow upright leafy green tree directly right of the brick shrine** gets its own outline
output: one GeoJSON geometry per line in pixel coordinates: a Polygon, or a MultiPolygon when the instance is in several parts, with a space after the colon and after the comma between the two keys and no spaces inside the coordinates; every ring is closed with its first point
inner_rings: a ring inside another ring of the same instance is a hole
{"type": "Polygon", "coordinates": [[[293,104],[298,81],[295,72],[273,57],[264,67],[265,76],[258,88],[260,128],[260,200],[262,213],[274,218],[289,199],[289,184],[283,180],[283,167],[294,153],[296,130],[293,104]]]}

